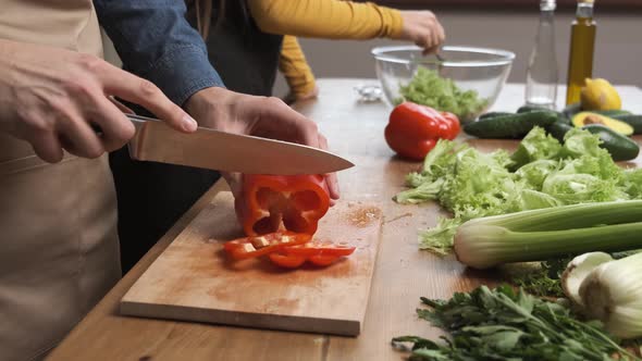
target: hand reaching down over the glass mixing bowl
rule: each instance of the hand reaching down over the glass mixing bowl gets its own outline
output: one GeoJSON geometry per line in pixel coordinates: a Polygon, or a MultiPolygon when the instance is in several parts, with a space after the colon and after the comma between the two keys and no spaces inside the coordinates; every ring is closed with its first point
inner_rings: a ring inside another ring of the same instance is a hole
{"type": "Polygon", "coordinates": [[[435,52],[446,39],[444,28],[432,11],[402,11],[402,18],[400,38],[423,48],[424,54],[435,52]]]}

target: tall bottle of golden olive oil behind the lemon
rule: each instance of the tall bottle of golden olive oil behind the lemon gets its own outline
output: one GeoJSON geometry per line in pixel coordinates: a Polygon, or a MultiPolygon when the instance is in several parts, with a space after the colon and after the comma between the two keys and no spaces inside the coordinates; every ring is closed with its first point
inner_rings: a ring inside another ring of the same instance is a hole
{"type": "Polygon", "coordinates": [[[578,0],[576,20],[570,33],[570,55],[568,59],[568,82],[566,104],[580,101],[584,79],[593,75],[593,52],[596,25],[593,20],[593,0],[578,0]]]}

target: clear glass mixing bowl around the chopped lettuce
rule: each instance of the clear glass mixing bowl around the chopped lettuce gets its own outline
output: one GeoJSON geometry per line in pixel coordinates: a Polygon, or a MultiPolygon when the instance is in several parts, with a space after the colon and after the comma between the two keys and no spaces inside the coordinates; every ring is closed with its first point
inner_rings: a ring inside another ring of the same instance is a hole
{"type": "Polygon", "coordinates": [[[506,50],[446,46],[439,55],[423,55],[415,46],[378,47],[372,49],[376,76],[386,102],[394,105],[404,100],[399,88],[406,86],[423,66],[441,77],[453,79],[461,90],[474,90],[484,101],[483,107],[466,115],[461,123],[474,121],[493,105],[508,78],[515,53],[506,50]]]}

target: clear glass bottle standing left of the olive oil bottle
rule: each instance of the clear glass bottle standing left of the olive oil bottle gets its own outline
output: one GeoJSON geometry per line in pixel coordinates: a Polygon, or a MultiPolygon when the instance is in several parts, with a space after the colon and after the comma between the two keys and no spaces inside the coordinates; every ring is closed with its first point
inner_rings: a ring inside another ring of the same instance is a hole
{"type": "Polygon", "coordinates": [[[526,103],[555,109],[557,98],[557,55],[555,53],[554,0],[540,2],[540,26],[529,59],[526,103]]]}

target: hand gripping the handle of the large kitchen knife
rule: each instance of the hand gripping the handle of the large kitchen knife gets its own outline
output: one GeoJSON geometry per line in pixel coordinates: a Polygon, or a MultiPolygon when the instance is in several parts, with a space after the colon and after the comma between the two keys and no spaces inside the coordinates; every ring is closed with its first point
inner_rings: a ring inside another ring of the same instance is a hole
{"type": "Polygon", "coordinates": [[[92,55],[0,39],[0,132],[28,141],[42,160],[59,162],[63,149],[97,158],[125,145],[135,128],[113,97],[181,132],[196,130],[196,122],[148,80],[92,55]]]}

